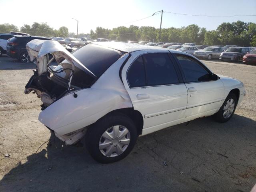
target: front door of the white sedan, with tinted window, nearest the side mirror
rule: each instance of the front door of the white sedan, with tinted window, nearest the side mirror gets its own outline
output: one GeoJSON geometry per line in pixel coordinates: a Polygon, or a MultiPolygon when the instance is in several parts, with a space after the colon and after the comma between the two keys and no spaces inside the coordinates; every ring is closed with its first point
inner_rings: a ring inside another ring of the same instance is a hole
{"type": "Polygon", "coordinates": [[[212,72],[195,58],[175,55],[188,89],[185,121],[216,113],[224,100],[224,84],[220,78],[212,80],[212,72]]]}

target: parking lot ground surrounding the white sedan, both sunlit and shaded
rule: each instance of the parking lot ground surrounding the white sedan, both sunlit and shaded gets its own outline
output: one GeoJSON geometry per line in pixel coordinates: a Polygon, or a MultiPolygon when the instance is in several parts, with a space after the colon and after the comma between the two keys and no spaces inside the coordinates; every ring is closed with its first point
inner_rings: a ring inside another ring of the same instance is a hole
{"type": "Polygon", "coordinates": [[[41,102],[24,94],[35,65],[0,57],[0,191],[250,191],[256,183],[256,66],[203,62],[245,85],[230,121],[207,117],[166,128],[138,138],[124,160],[98,164],[84,141],[65,146],[37,120],[41,102]]]}

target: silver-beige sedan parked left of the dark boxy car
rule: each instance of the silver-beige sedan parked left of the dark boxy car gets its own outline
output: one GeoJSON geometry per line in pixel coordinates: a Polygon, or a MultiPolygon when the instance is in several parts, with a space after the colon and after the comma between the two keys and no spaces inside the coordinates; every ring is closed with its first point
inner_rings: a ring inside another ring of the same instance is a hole
{"type": "Polygon", "coordinates": [[[223,52],[221,48],[218,47],[206,47],[203,50],[195,51],[193,55],[197,58],[203,58],[203,59],[214,59],[214,58],[220,58],[220,54],[223,52]]]}

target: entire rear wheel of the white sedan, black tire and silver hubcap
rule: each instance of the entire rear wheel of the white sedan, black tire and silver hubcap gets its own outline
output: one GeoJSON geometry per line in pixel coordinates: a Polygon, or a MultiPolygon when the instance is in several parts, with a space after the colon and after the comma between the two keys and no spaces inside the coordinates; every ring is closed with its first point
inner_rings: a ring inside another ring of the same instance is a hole
{"type": "Polygon", "coordinates": [[[137,140],[134,122],[126,115],[106,115],[88,129],[86,147],[92,158],[111,163],[125,158],[137,140]]]}

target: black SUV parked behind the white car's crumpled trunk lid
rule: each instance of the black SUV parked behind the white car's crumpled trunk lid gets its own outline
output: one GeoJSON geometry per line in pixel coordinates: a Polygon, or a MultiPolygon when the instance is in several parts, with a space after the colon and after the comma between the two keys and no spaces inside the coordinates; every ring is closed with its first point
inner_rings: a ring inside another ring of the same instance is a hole
{"type": "Polygon", "coordinates": [[[6,53],[10,57],[16,58],[23,63],[30,62],[30,58],[26,50],[26,44],[33,39],[52,40],[52,39],[37,37],[37,36],[15,35],[13,38],[10,38],[7,42],[6,53]]]}

